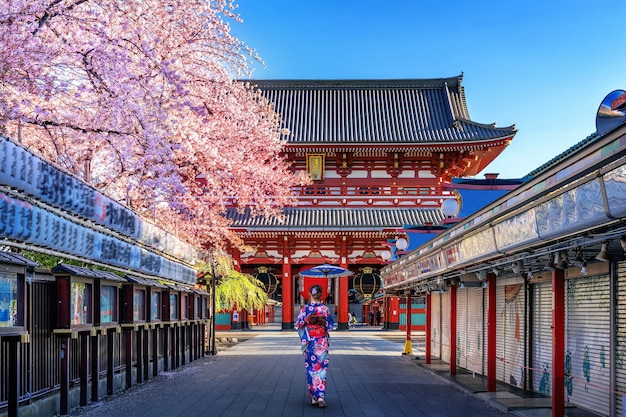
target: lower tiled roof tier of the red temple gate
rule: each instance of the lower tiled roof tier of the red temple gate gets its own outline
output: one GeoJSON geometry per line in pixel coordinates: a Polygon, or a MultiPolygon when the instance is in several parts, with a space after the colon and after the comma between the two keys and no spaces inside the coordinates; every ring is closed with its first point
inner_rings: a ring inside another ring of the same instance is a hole
{"type": "Polygon", "coordinates": [[[374,230],[405,225],[437,224],[443,219],[440,209],[404,208],[289,208],[283,210],[284,221],[252,217],[250,212],[237,213],[229,209],[226,217],[233,220],[231,227],[248,230],[277,231],[339,231],[374,230]]]}

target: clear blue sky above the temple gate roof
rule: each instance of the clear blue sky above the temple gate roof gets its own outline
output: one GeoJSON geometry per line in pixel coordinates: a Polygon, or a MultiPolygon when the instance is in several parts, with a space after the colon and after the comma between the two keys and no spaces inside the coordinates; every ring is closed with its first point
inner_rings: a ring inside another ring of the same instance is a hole
{"type": "Polygon", "coordinates": [[[440,78],[464,73],[472,120],[516,124],[483,173],[519,178],[595,132],[626,89],[626,2],[240,0],[232,33],[257,79],[440,78]]]}

